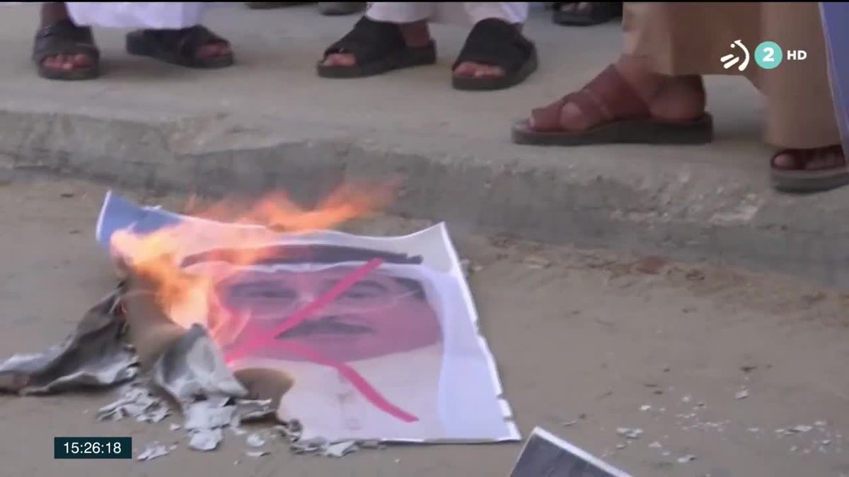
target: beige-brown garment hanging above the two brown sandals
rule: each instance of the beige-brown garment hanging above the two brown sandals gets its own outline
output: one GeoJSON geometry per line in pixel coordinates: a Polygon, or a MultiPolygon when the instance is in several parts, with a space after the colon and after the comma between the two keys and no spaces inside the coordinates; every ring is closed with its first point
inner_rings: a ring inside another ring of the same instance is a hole
{"type": "Polygon", "coordinates": [[[818,148],[841,142],[828,79],[818,3],[625,3],[625,53],[666,75],[741,75],[767,98],[765,139],[780,148],[818,148]],[[720,58],[751,54],[749,65],[723,69],[720,58]],[[803,49],[807,59],[784,58],[773,70],[755,63],[764,41],[803,49]]]}

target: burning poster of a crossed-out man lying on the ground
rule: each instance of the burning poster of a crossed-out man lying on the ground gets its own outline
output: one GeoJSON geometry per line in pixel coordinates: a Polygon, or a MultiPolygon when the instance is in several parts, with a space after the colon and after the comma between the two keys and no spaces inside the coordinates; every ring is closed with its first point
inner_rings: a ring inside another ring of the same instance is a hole
{"type": "MultiPolygon", "coordinates": [[[[336,205],[311,224],[351,213],[336,205]]],[[[108,194],[97,238],[156,283],[171,321],[204,325],[237,377],[284,383],[278,418],[298,420],[304,439],[519,440],[445,225],[394,238],[308,228],[277,233],[108,194]]]]}

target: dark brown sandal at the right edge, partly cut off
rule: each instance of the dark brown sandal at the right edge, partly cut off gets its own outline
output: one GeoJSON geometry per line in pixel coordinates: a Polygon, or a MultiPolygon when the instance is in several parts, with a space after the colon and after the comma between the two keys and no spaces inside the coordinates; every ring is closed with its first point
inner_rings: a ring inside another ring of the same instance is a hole
{"type": "Polygon", "coordinates": [[[809,194],[849,184],[849,167],[839,144],[816,149],[783,149],[773,155],[769,166],[773,187],[781,192],[809,194]],[[775,159],[781,154],[790,154],[793,167],[775,164],[775,159]]]}

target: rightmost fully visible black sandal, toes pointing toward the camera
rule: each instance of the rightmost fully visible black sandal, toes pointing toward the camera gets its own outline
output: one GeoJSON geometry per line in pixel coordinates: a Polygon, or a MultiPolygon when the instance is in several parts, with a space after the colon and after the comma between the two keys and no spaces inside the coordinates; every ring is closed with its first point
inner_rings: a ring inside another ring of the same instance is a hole
{"type": "Polygon", "coordinates": [[[475,24],[452,71],[466,61],[500,66],[504,76],[475,78],[453,75],[454,89],[485,91],[515,86],[537,70],[537,46],[521,34],[518,28],[504,20],[486,19],[475,24]]]}

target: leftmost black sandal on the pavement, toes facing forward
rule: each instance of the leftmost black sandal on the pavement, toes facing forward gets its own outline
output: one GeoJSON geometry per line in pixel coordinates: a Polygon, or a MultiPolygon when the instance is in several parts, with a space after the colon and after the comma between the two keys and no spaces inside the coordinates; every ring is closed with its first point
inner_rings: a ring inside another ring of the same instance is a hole
{"type": "Polygon", "coordinates": [[[94,45],[92,29],[74,25],[70,20],[59,20],[36,32],[32,61],[36,64],[38,76],[48,80],[91,80],[100,75],[100,52],[94,45]],[[84,54],[91,59],[92,65],[73,70],[49,68],[44,65],[45,59],[60,54],[84,54]]]}

